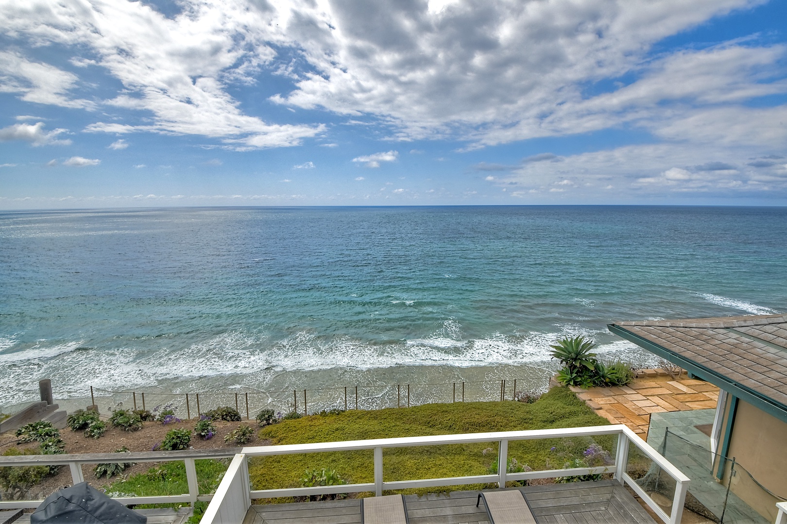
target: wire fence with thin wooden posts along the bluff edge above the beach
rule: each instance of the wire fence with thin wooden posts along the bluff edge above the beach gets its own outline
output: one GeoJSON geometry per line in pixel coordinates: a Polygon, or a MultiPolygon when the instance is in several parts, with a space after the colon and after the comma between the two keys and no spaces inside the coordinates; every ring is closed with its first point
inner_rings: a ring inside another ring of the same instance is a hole
{"type": "Polygon", "coordinates": [[[238,392],[164,393],[157,391],[113,391],[91,386],[91,401],[101,412],[117,407],[174,409],[187,419],[210,409],[230,406],[252,419],[262,409],[283,414],[309,415],[331,409],[385,409],[422,404],[516,400],[538,394],[549,387],[549,376],[527,379],[478,380],[473,382],[376,384],[305,388],[299,390],[240,390],[238,392]]]}

